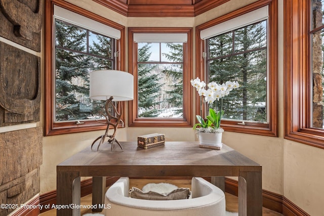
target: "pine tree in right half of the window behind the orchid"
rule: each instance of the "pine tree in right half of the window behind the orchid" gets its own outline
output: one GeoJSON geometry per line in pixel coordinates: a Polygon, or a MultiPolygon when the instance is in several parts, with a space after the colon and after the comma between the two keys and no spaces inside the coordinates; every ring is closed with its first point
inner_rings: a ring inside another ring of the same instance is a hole
{"type": "MultiPolygon", "coordinates": [[[[265,21],[263,22],[265,24],[265,21]]],[[[267,94],[267,54],[266,31],[262,23],[247,26],[235,31],[236,41],[242,45],[240,52],[254,49],[255,51],[244,53],[237,59],[237,65],[241,69],[241,88],[238,91],[242,95],[243,120],[266,121],[266,109],[258,106],[266,102],[267,94]]]]}

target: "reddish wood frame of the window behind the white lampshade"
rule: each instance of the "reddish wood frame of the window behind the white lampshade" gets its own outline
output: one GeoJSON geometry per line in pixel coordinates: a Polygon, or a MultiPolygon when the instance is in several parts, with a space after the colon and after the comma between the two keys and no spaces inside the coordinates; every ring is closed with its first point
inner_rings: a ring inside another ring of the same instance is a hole
{"type": "MultiPolygon", "coordinates": [[[[50,135],[61,135],[78,132],[95,131],[99,129],[106,129],[107,125],[99,123],[95,120],[82,121],[82,124],[77,124],[75,121],[68,122],[55,122],[54,121],[54,110],[55,106],[55,93],[53,90],[54,78],[53,78],[53,14],[54,5],[61,8],[70,10],[82,16],[101,22],[105,25],[111,26],[120,30],[120,39],[116,40],[116,49],[119,51],[119,56],[116,57],[116,69],[125,71],[126,63],[126,29],[125,26],[119,25],[113,21],[107,20],[99,15],[89,12],[85,9],[79,8],[75,5],[67,3],[61,0],[51,0],[45,2],[45,123],[44,123],[44,134],[45,136],[50,135]]],[[[124,104],[125,102],[121,102],[124,104]]],[[[125,121],[126,115],[123,114],[121,117],[125,121]]],[[[121,124],[119,126],[122,126],[121,124]]]]}

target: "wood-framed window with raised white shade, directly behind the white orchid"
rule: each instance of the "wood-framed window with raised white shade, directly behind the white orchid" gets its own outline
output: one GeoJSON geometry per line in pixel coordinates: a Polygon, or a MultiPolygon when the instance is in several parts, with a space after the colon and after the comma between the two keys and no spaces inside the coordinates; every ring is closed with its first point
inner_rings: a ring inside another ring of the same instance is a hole
{"type": "MultiPolygon", "coordinates": [[[[223,99],[226,131],[277,136],[276,31],[276,0],[258,1],[196,27],[197,76],[240,84],[223,99]]],[[[202,107],[202,114],[207,110],[202,107]]]]}

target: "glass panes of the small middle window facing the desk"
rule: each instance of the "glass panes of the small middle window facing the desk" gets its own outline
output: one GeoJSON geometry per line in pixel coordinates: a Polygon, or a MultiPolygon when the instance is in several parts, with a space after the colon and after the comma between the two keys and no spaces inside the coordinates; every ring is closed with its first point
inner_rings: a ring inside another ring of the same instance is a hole
{"type": "Polygon", "coordinates": [[[138,117],[183,116],[183,44],[137,44],[138,117]]]}

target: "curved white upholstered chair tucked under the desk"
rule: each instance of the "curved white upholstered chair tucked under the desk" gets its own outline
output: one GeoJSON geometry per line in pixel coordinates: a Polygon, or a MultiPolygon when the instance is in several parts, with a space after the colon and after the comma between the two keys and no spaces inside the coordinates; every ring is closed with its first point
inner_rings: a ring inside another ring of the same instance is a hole
{"type": "Polygon", "coordinates": [[[105,194],[105,215],[132,216],[225,216],[225,194],[203,178],[191,180],[191,198],[143,200],[130,198],[129,178],[120,178],[105,194]]]}

